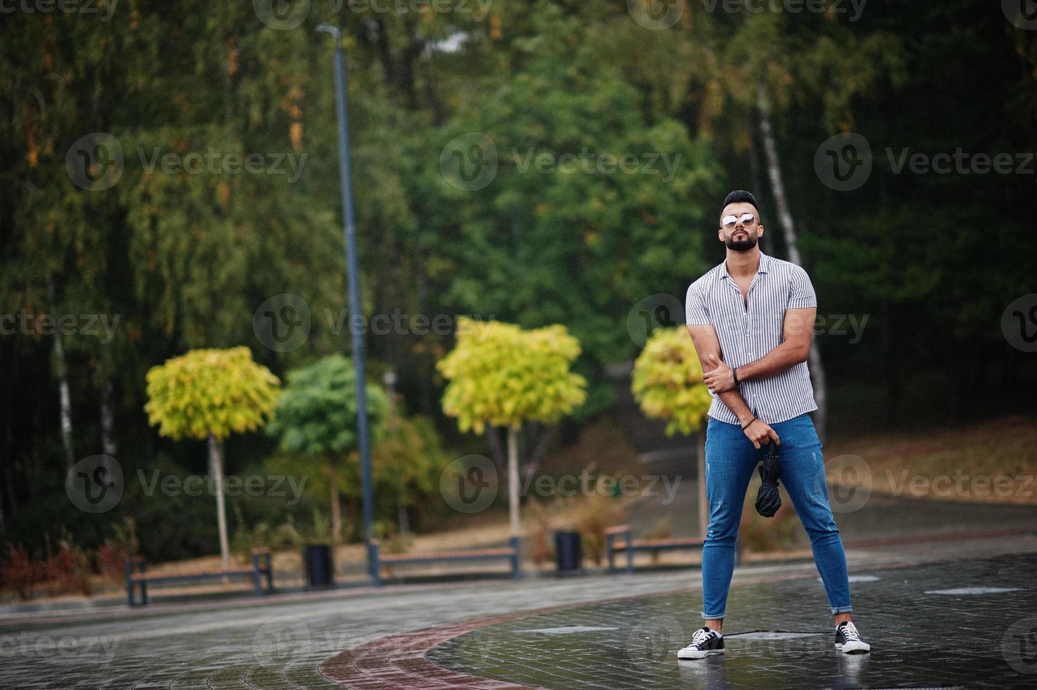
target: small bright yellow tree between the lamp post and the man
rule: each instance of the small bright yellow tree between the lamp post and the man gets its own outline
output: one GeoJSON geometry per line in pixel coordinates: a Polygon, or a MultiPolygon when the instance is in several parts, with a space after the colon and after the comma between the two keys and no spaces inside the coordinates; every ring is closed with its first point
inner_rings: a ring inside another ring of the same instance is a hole
{"type": "Polygon", "coordinates": [[[517,432],[527,421],[557,422],[587,399],[587,380],[570,370],[580,341],[564,326],[524,331],[502,322],[460,319],[457,344],[437,368],[450,380],[443,411],[460,431],[508,429],[508,513],[518,533],[517,432]]]}

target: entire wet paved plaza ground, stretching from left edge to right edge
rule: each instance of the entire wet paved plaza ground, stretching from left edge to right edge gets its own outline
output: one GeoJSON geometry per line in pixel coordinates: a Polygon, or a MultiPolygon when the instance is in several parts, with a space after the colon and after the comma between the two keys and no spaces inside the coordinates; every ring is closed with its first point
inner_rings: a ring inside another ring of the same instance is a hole
{"type": "Polygon", "coordinates": [[[831,648],[823,588],[807,562],[736,569],[728,653],[698,665],[675,656],[700,625],[700,578],[691,569],[9,618],[0,622],[0,688],[340,688],[318,666],[365,646],[380,650],[365,663],[410,655],[411,675],[394,685],[376,667],[358,667],[362,682],[351,687],[444,687],[415,674],[422,661],[422,672],[551,688],[1037,686],[1037,541],[882,547],[848,557],[858,620],[876,646],[865,659],[831,648]],[[1019,555],[999,555],[1008,551],[1019,555]],[[923,562],[932,559],[960,562],[923,562]],[[944,590],[951,594],[927,594],[944,590]],[[530,616],[531,609],[539,610],[530,616]],[[484,628],[466,623],[493,616],[484,628]],[[422,630],[405,650],[395,641],[422,630]],[[735,634],[760,630],[797,636],[735,634]]]}

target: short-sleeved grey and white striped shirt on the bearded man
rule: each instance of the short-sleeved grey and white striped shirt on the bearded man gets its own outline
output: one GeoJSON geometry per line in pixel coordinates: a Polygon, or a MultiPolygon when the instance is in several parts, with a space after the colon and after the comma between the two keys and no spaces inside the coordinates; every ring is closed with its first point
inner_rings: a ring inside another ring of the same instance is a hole
{"type": "MultiPolygon", "coordinates": [[[[786,309],[816,306],[817,296],[806,271],[760,252],[748,308],[727,272],[727,261],[723,261],[688,288],[684,312],[690,326],[710,324],[717,330],[724,362],[733,369],[755,362],[781,344],[786,309]]],[[[753,414],[768,424],[817,409],[806,362],[763,379],[739,381],[738,392],[753,414]]],[[[716,393],[709,416],[738,423],[716,393]]]]}

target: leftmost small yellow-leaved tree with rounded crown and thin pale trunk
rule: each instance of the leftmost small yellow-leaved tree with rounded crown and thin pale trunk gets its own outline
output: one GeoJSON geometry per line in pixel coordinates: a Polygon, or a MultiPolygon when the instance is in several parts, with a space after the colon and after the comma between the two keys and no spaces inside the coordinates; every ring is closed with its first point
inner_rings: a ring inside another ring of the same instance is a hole
{"type": "Polygon", "coordinates": [[[229,565],[230,548],[223,496],[223,441],[267,422],[277,403],[279,384],[270,369],[252,361],[248,348],[192,350],[147,372],[144,411],[150,423],[159,426],[159,434],[208,440],[224,569],[229,565]]]}

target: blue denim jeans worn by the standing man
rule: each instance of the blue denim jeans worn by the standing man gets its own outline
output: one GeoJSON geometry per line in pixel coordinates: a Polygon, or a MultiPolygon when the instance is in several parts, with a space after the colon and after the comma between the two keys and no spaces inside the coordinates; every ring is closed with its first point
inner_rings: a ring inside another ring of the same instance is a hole
{"type": "MultiPolygon", "coordinates": [[[[770,425],[781,439],[781,484],[810,535],[814,564],[824,582],[832,613],[851,611],[846,554],[829,506],[821,442],[809,414],[770,425]]],[[[702,617],[723,618],[734,572],[734,543],[741,506],[760,457],[738,424],[709,417],[706,426],[706,496],[709,528],[702,547],[702,617]]]]}

